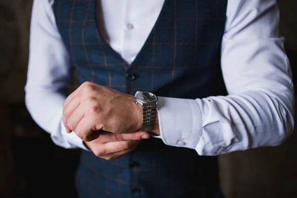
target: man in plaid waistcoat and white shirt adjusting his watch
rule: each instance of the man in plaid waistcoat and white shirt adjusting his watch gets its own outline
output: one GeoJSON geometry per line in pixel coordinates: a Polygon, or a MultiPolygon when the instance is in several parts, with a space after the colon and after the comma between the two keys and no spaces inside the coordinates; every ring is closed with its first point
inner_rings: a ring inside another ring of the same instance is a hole
{"type": "Polygon", "coordinates": [[[221,197],[199,155],[292,132],[275,0],[36,0],[31,21],[26,104],[55,144],[83,148],[81,197],[221,197]]]}

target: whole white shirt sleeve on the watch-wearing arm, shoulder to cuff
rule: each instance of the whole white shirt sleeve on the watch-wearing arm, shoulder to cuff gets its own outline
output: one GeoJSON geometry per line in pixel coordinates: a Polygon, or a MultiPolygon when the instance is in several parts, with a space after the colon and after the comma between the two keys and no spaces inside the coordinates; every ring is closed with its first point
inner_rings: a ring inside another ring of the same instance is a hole
{"type": "Polygon", "coordinates": [[[294,128],[294,87],[276,0],[228,0],[221,67],[228,96],[161,98],[167,145],[218,155],[277,146],[294,128]]]}

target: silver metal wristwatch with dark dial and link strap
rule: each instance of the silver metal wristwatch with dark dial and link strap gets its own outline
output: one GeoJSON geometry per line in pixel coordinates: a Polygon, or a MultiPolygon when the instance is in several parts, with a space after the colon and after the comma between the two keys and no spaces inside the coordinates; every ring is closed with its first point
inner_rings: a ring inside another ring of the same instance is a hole
{"type": "Polygon", "coordinates": [[[134,101],[143,107],[143,123],[139,131],[149,132],[152,128],[158,97],[149,92],[136,92],[134,101]]]}

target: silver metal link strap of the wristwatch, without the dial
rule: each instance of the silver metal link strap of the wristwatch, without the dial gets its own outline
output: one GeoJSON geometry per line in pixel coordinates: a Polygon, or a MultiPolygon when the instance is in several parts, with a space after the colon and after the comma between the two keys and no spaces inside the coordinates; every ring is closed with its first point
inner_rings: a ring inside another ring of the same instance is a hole
{"type": "Polygon", "coordinates": [[[143,123],[140,131],[150,131],[152,129],[156,105],[143,105],[143,123]]]}

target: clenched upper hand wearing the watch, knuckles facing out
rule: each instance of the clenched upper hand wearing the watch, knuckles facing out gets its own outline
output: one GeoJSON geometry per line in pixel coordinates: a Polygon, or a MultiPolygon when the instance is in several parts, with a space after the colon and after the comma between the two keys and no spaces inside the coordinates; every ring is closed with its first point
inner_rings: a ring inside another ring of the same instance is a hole
{"type": "Polygon", "coordinates": [[[63,123],[85,142],[90,142],[93,131],[133,133],[142,125],[142,107],[134,96],[85,82],[63,103],[63,123]]]}

